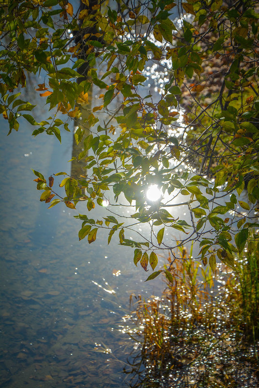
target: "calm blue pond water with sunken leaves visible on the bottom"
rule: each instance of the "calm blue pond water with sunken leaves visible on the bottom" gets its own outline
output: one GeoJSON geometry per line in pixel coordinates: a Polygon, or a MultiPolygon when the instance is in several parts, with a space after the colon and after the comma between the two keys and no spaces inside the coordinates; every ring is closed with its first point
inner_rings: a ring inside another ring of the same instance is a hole
{"type": "Polygon", "coordinates": [[[76,211],[39,201],[30,169],[69,172],[73,133],[60,144],[33,129],[24,120],[6,137],[1,119],[0,387],[124,387],[133,342],[118,329],[129,296],[155,294],[162,282],[143,285],[131,249],[107,246],[101,233],[79,242],[76,211]]]}

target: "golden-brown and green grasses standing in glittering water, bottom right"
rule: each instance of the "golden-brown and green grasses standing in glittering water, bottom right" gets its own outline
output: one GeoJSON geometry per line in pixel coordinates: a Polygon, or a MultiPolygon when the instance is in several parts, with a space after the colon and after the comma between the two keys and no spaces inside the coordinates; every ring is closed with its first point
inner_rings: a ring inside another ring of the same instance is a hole
{"type": "Polygon", "coordinates": [[[122,328],[136,341],[130,387],[257,387],[258,264],[254,241],[233,271],[178,260],[161,297],[132,295],[122,328]]]}

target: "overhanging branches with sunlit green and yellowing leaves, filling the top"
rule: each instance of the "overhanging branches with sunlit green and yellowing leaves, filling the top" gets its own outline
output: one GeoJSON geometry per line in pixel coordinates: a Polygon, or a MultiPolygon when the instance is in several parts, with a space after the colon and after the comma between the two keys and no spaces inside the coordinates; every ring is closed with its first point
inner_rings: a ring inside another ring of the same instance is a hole
{"type": "Polygon", "coordinates": [[[117,235],[144,270],[156,268],[157,250],[174,255],[187,243],[199,244],[198,257],[213,270],[216,256],[234,265],[249,229],[259,226],[257,12],[256,1],[83,0],[79,11],[64,0],[1,1],[0,112],[10,132],[22,115],[33,136],[60,141],[75,121],[82,174],[56,173],[65,176],[60,196],[56,178],[34,173],[49,208],[86,202],[87,214],[76,216],[80,240],[91,243],[106,229],[108,243],[117,235]],[[41,71],[45,82],[36,90],[53,110],[38,123],[34,105],[15,89],[41,71]],[[100,101],[94,107],[92,85],[100,101]],[[156,201],[147,197],[150,186],[159,190],[156,201]],[[246,189],[249,203],[240,197],[246,189]],[[105,202],[103,220],[89,217],[105,202]],[[122,217],[123,206],[129,213],[122,217]],[[189,223],[172,216],[176,206],[189,223]],[[142,224],[148,234],[137,231],[142,224]],[[178,231],[181,241],[165,239],[178,231]]]}

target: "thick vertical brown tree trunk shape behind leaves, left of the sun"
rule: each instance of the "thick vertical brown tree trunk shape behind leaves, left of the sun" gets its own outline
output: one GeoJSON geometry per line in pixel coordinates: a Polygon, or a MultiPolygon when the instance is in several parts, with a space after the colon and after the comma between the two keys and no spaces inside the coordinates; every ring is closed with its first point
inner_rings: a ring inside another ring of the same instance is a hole
{"type": "MultiPolygon", "coordinates": [[[[92,7],[94,5],[96,5],[97,3],[98,3],[98,0],[90,0],[89,6],[87,6],[86,4],[81,2],[79,12],[83,9],[88,9],[89,14],[92,14],[92,19],[94,19],[94,14],[96,13],[96,11],[92,11],[92,7]]],[[[87,73],[88,73],[88,69],[89,69],[89,63],[87,61],[87,56],[88,56],[87,51],[89,49],[89,46],[87,45],[87,42],[84,40],[84,35],[90,34],[87,39],[97,40],[97,38],[94,37],[95,32],[96,32],[95,26],[88,28],[88,29],[84,29],[84,30],[79,29],[78,31],[76,31],[75,44],[80,43],[80,45],[81,45],[80,46],[81,47],[80,54],[77,56],[77,58],[85,60],[85,63],[83,63],[77,69],[77,72],[82,75],[82,77],[78,78],[78,80],[77,80],[78,83],[80,83],[82,80],[87,79],[87,73]]],[[[89,104],[87,106],[85,106],[85,107],[80,106],[80,111],[82,113],[81,120],[77,120],[75,123],[75,131],[76,131],[76,128],[78,126],[81,126],[81,127],[83,127],[83,129],[85,129],[85,134],[84,134],[83,139],[80,141],[79,144],[76,144],[75,137],[73,138],[72,157],[75,157],[75,158],[82,151],[84,139],[89,135],[89,132],[90,132],[89,126],[88,126],[88,118],[89,118],[89,115],[91,113],[90,109],[91,109],[91,102],[92,102],[92,85],[91,85],[90,89],[88,90],[88,101],[89,101],[89,104]]],[[[71,176],[79,177],[79,175],[85,173],[85,166],[86,166],[86,163],[84,162],[85,157],[83,157],[80,161],[78,161],[77,159],[72,161],[71,176]]]]}

